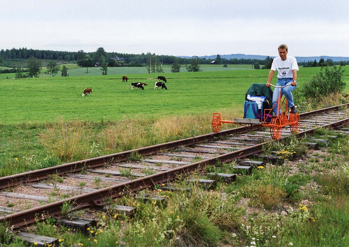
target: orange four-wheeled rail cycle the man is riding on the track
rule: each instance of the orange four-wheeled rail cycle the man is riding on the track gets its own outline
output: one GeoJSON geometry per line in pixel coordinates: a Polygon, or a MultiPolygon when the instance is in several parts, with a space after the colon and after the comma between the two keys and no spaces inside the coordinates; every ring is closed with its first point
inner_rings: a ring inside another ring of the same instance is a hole
{"type": "MultiPolygon", "coordinates": [[[[300,117],[298,113],[292,114],[288,108],[287,105],[287,99],[284,97],[281,101],[281,88],[289,86],[274,86],[270,84],[270,86],[273,86],[275,90],[279,90],[279,97],[277,101],[274,103],[273,107],[277,104],[278,108],[281,108],[281,114],[277,114],[275,116],[272,116],[272,119],[270,122],[267,121],[267,118],[263,117],[263,120],[260,119],[246,119],[246,118],[234,118],[234,121],[231,120],[221,120],[221,113],[213,113],[213,118],[211,122],[212,130],[214,132],[219,132],[221,130],[222,123],[233,123],[237,125],[261,125],[263,127],[269,127],[270,128],[270,135],[274,140],[280,140],[281,138],[281,132],[282,128],[289,125],[290,130],[292,134],[298,134],[299,128],[300,128],[300,117]],[[287,114],[288,113],[288,114],[287,114]]],[[[280,112],[280,110],[279,110],[280,112]]],[[[272,115],[273,108],[272,109],[264,109],[263,116],[266,115],[272,115]]]]}

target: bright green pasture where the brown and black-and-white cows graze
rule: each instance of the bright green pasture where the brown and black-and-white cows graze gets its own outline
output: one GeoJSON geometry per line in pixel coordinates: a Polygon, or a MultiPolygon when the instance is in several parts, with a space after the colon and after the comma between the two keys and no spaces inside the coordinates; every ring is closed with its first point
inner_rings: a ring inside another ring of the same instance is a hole
{"type": "MultiPolygon", "coordinates": [[[[346,67],[344,67],[346,68],[346,67]]],[[[302,68],[298,86],[319,68],[302,68]]],[[[252,83],[266,83],[269,70],[163,73],[168,90],[154,90],[158,74],[1,79],[0,123],[64,120],[120,120],[205,114],[232,108],[243,112],[245,92],[252,83]],[[131,90],[131,82],[144,82],[144,90],[131,90]],[[81,97],[85,88],[92,96],[81,97]]],[[[348,69],[344,73],[348,82],[348,69]]],[[[276,83],[276,76],[273,79],[276,83]]],[[[273,83],[272,82],[272,83],[273,83]]],[[[349,83],[347,83],[349,84],[349,83]]],[[[346,87],[348,90],[348,85],[346,87]]]]}

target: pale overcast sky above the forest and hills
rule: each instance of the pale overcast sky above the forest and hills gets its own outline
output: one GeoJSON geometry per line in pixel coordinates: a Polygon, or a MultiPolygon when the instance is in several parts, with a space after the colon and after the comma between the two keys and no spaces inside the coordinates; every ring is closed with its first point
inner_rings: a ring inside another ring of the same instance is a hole
{"type": "Polygon", "coordinates": [[[0,2],[0,49],[349,57],[349,0],[0,2]]]}

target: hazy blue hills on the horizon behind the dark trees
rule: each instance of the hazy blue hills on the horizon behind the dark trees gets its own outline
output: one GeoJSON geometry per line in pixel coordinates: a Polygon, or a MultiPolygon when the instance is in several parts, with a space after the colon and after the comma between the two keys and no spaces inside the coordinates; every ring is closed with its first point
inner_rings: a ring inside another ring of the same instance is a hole
{"type": "MultiPolygon", "coordinates": [[[[246,55],[246,54],[230,54],[230,55],[221,55],[221,58],[225,58],[225,59],[232,59],[232,58],[236,58],[236,59],[260,59],[260,60],[264,60],[266,59],[267,56],[263,56],[263,55],[246,55]]],[[[179,58],[192,58],[192,57],[188,57],[188,56],[177,56],[179,58]]],[[[206,58],[206,59],[216,59],[217,55],[210,55],[210,56],[201,56],[199,58],[206,58]]],[[[273,56],[269,56],[271,58],[275,58],[273,56]]],[[[324,58],[325,61],[327,59],[332,59],[335,62],[339,62],[339,61],[347,61],[349,60],[349,57],[329,57],[329,56],[319,56],[319,57],[296,57],[298,62],[307,62],[307,61],[314,61],[316,59],[316,61],[319,61],[320,58],[324,58]]]]}

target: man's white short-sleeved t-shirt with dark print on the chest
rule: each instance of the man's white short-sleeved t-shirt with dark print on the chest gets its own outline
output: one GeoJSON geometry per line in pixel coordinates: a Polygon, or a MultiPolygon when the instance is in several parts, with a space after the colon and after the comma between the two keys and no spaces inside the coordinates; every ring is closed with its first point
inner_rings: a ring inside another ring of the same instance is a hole
{"type": "Polygon", "coordinates": [[[289,56],[284,61],[280,57],[274,58],[271,68],[271,70],[277,70],[277,78],[293,78],[292,70],[294,69],[299,70],[297,60],[289,56]]]}

